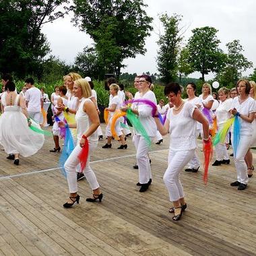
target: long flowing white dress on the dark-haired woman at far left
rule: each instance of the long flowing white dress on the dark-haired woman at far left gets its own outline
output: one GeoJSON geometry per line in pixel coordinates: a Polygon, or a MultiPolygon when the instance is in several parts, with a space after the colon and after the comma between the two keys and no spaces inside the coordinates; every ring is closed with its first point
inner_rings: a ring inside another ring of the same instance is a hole
{"type": "MultiPolygon", "coordinates": [[[[36,154],[44,144],[44,135],[32,131],[18,106],[20,96],[15,97],[13,106],[5,106],[0,119],[0,143],[7,154],[21,154],[24,157],[36,154]]],[[[40,125],[32,123],[40,129],[40,125]]]]}

